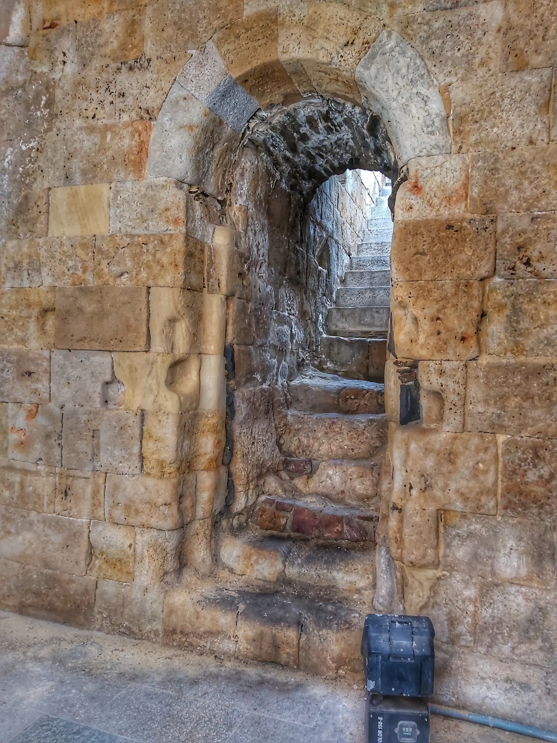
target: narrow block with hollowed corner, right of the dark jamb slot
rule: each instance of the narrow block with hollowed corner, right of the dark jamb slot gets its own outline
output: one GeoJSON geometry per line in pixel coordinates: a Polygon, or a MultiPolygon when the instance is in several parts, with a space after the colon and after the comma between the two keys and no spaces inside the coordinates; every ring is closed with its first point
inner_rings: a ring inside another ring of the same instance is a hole
{"type": "MultiPolygon", "coordinates": [[[[434,400],[427,392],[434,392],[442,398],[440,423],[443,431],[460,433],[464,430],[464,401],[466,398],[466,364],[459,361],[420,361],[418,364],[420,382],[420,405],[423,421],[429,418],[428,405],[434,400]]],[[[430,419],[431,420],[431,419],[430,419]]],[[[437,422],[437,421],[432,421],[437,422]]]]}

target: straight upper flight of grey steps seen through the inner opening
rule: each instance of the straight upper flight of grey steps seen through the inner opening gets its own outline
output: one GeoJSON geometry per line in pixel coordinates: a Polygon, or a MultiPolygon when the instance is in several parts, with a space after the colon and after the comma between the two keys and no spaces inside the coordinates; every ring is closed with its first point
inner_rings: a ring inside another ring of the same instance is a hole
{"type": "Polygon", "coordinates": [[[381,189],[364,240],[336,291],[335,306],[329,309],[327,335],[319,345],[319,369],[323,371],[382,379],[391,301],[390,192],[390,185],[381,189]]]}

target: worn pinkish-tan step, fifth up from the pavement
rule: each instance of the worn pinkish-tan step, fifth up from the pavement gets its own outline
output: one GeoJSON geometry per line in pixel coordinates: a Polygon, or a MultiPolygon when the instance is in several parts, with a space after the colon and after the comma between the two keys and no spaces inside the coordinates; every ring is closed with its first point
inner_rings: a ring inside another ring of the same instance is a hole
{"type": "Polygon", "coordinates": [[[284,456],[310,459],[368,459],[387,440],[384,415],[287,412],[279,443],[284,456]]]}

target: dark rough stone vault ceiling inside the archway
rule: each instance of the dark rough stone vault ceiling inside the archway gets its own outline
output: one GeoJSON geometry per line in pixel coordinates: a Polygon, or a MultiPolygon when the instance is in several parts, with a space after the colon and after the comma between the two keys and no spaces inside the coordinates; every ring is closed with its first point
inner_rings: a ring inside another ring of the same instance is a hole
{"type": "Polygon", "coordinates": [[[291,106],[257,111],[246,141],[265,152],[304,201],[331,175],[346,170],[378,170],[397,178],[394,151],[380,118],[343,100],[312,95],[291,106]]]}

